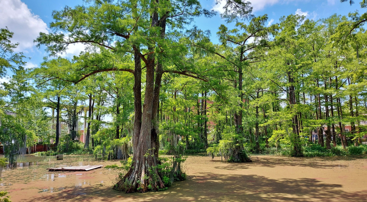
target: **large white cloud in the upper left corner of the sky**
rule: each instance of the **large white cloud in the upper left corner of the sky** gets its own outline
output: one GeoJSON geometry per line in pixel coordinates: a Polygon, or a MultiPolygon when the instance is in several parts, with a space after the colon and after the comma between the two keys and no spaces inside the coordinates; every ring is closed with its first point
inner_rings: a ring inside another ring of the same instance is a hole
{"type": "Polygon", "coordinates": [[[20,0],[0,0],[0,27],[14,32],[12,42],[19,43],[16,51],[25,51],[34,46],[33,40],[40,32],[48,33],[43,20],[31,12],[20,0]]]}

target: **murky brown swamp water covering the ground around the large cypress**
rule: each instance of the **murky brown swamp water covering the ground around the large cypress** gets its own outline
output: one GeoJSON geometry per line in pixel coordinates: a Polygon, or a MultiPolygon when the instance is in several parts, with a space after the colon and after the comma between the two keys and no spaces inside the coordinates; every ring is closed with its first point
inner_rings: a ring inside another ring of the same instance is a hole
{"type": "Polygon", "coordinates": [[[3,171],[0,190],[14,201],[367,201],[367,156],[256,156],[252,163],[189,156],[188,179],[166,191],[123,194],[111,189],[119,171],[48,172],[58,165],[112,165],[93,156],[25,156],[3,171]]]}

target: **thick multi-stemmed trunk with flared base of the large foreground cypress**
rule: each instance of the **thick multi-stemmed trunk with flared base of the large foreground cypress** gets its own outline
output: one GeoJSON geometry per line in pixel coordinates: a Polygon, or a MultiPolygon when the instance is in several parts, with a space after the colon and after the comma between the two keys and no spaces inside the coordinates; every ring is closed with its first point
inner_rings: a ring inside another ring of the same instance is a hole
{"type": "MultiPolygon", "coordinates": [[[[158,1],[156,0],[156,3],[158,1]]],[[[158,13],[154,11],[152,13],[152,27],[157,27],[158,13]]],[[[135,85],[134,85],[134,97],[135,97],[135,120],[138,115],[141,115],[140,130],[134,123],[134,154],[132,158],[132,166],[127,174],[117,183],[119,190],[125,192],[146,192],[149,190],[160,190],[164,188],[164,184],[157,172],[156,168],[156,155],[155,146],[152,146],[152,113],[153,113],[153,100],[154,100],[154,66],[155,66],[155,45],[148,45],[148,57],[146,59],[146,85],[145,85],[145,98],[143,104],[143,110],[136,103],[138,99],[141,100],[141,64],[140,64],[140,50],[138,47],[134,47],[135,57],[135,85]],[[139,114],[140,113],[140,114],[139,114]],[[138,189],[139,188],[139,189],[138,189]]],[[[139,124],[140,125],[140,124],[139,124]]]]}

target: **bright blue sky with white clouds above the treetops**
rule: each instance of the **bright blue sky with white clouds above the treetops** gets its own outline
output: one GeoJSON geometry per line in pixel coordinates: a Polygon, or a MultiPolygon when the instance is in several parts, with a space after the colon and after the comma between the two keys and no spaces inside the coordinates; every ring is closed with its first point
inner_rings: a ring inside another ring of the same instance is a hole
{"type": "MultiPolygon", "coordinates": [[[[254,15],[268,14],[269,25],[279,22],[279,18],[284,15],[299,14],[305,15],[306,18],[320,19],[326,18],[334,13],[340,15],[348,15],[349,12],[359,10],[366,12],[365,9],[359,7],[359,0],[356,4],[350,6],[349,3],[340,3],[339,0],[250,0],[254,7],[254,15]]],[[[0,27],[7,26],[10,31],[14,32],[12,42],[19,42],[16,51],[23,52],[30,60],[26,68],[37,67],[42,62],[43,57],[48,54],[43,49],[37,49],[33,44],[33,40],[40,31],[47,32],[48,25],[52,22],[52,11],[61,10],[65,5],[75,6],[82,4],[82,0],[0,0],[0,27]]],[[[222,11],[220,4],[215,4],[215,0],[201,0],[203,7],[214,9],[218,13],[222,11]]],[[[196,18],[192,25],[196,25],[202,30],[211,30],[212,41],[217,42],[216,32],[221,24],[225,21],[216,15],[212,18],[196,18]]],[[[83,45],[71,46],[69,50],[63,54],[65,57],[78,55],[83,51],[83,45]]],[[[11,73],[10,73],[11,74],[11,73]]],[[[0,82],[6,81],[6,78],[0,78],[0,82]]]]}

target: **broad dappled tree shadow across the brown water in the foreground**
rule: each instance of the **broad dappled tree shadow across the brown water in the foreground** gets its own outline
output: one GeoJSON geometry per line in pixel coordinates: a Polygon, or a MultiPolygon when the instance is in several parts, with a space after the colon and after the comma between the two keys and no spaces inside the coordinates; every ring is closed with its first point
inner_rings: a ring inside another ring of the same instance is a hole
{"type": "Polygon", "coordinates": [[[110,187],[88,186],[65,190],[34,201],[367,201],[366,191],[345,192],[340,184],[317,179],[270,179],[259,175],[200,176],[177,182],[166,191],[123,194],[110,187]]]}

